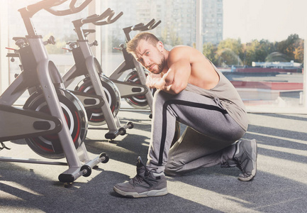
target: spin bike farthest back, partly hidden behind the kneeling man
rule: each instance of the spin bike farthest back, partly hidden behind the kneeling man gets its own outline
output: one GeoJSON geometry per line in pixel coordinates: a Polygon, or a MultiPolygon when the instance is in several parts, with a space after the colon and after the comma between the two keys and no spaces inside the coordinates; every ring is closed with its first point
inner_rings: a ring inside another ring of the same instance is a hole
{"type": "MultiPolygon", "coordinates": [[[[131,31],[149,31],[156,28],[160,23],[161,21],[156,23],[155,19],[152,19],[146,25],[138,23],[135,26],[123,28],[126,42],[131,40],[131,31]]],[[[111,75],[109,75],[108,78],[116,84],[121,94],[121,98],[124,98],[131,107],[134,107],[135,109],[147,109],[150,107],[150,111],[152,111],[152,94],[154,91],[145,86],[148,70],[145,70],[145,68],[135,60],[133,55],[127,52],[125,45],[121,44],[120,47],[121,48],[116,48],[116,50],[122,51],[124,61],[111,73],[111,75]],[[121,75],[123,75],[123,72],[127,70],[132,71],[128,73],[123,81],[120,81],[119,79],[121,75]]]]}

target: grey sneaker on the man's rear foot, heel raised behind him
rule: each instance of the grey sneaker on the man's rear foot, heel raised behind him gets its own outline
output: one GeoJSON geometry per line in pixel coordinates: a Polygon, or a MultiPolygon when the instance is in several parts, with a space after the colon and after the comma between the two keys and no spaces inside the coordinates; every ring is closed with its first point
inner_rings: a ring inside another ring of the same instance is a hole
{"type": "Polygon", "coordinates": [[[242,140],[236,144],[237,150],[233,159],[240,168],[241,174],[238,179],[250,181],[255,178],[257,172],[257,143],[256,140],[242,140]]]}

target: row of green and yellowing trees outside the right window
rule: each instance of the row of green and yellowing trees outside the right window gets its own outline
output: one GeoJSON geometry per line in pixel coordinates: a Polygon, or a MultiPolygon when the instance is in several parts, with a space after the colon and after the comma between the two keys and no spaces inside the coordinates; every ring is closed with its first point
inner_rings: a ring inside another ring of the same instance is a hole
{"type": "MultiPolygon", "coordinates": [[[[252,65],[252,62],[295,62],[303,63],[304,41],[298,35],[289,35],[286,40],[252,40],[240,43],[240,39],[225,39],[218,44],[215,60],[217,65],[252,65]]],[[[204,54],[211,55],[211,47],[204,45],[204,54]],[[210,51],[209,51],[210,50],[210,51]]],[[[211,58],[212,59],[212,58],[211,58]]]]}

